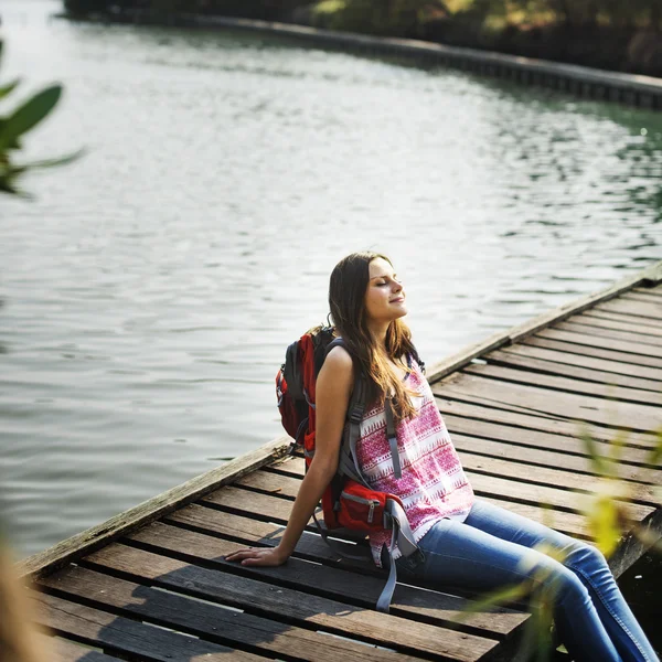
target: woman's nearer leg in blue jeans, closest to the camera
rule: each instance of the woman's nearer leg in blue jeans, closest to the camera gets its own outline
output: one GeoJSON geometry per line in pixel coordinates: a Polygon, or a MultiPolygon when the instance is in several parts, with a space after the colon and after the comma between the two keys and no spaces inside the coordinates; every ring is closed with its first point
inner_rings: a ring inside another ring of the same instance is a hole
{"type": "MultiPolygon", "coordinates": [[[[473,511],[472,511],[473,512],[473,511]]],[[[554,587],[555,602],[570,628],[564,639],[579,662],[622,662],[584,584],[570,569],[549,556],[467,522],[441,520],[420,540],[423,563],[409,567],[398,559],[401,569],[409,569],[436,586],[461,586],[491,590],[530,581],[536,588],[554,587]]]]}

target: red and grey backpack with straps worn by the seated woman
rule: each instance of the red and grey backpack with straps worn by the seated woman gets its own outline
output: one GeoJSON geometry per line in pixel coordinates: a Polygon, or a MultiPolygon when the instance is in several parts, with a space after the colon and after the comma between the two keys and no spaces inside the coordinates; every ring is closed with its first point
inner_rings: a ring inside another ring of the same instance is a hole
{"type": "MultiPolygon", "coordinates": [[[[282,426],[293,438],[290,451],[303,449],[307,469],[314,456],[316,381],[327,354],[337,345],[346,349],[343,340],[335,337],[332,327],[316,327],[288,346],[285,363],[276,375],[276,394],[282,426]]],[[[417,355],[415,359],[421,364],[417,355]]],[[[348,406],[338,470],[322,494],[323,526],[314,515],[313,519],[322,538],[342,556],[348,555],[328,538],[328,531],[342,527],[366,534],[384,530],[392,531],[391,545],[387,549],[389,575],[376,605],[377,610],[388,612],[396,583],[396,569],[393,560],[395,545],[397,544],[402,556],[419,554],[419,551],[414,542],[414,535],[399,498],[395,494],[373,490],[359,466],[356,442],[361,437],[361,420],[366,404],[366,381],[357,372],[348,406]]],[[[386,435],[391,446],[395,476],[398,478],[402,476],[402,471],[393,409],[388,398],[385,402],[385,414],[386,435]]]]}

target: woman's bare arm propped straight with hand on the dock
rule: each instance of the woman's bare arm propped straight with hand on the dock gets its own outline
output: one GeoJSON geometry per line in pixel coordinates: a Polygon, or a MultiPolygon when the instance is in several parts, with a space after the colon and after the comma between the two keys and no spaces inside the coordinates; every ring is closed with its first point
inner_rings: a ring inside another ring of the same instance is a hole
{"type": "Polygon", "coordinates": [[[292,554],[338,469],[342,430],[353,385],[352,357],[343,348],[333,348],[317,378],[314,457],[301,481],[280,543],[277,547],[239,549],[228,554],[226,560],[241,560],[242,565],[274,566],[285,563],[292,554]]]}

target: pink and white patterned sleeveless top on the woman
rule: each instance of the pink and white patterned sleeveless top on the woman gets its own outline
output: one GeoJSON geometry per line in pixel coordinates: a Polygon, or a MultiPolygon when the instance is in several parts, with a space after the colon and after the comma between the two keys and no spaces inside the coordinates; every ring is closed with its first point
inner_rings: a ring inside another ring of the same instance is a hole
{"type": "MultiPolygon", "coordinates": [[[[412,370],[405,380],[407,386],[419,394],[412,398],[417,414],[396,426],[402,478],[394,476],[383,406],[373,407],[364,414],[356,455],[371,487],[401,498],[414,538],[418,542],[444,517],[463,521],[473,504],[473,490],[435,404],[428,381],[414,360],[412,370]]],[[[381,567],[382,546],[391,544],[391,532],[371,534],[370,543],[375,564],[381,567]]],[[[393,556],[401,556],[397,548],[393,556]]]]}

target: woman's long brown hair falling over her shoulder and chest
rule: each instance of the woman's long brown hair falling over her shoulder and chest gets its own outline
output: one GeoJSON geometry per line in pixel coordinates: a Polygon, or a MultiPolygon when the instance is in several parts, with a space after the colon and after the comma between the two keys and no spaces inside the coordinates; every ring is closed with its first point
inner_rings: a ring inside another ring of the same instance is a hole
{"type": "Polygon", "coordinates": [[[377,344],[367,327],[365,314],[365,292],[370,282],[370,263],[381,257],[380,253],[352,253],[341,259],[329,281],[329,307],[337,334],[345,341],[359,369],[367,380],[367,404],[384,404],[385,395],[393,396],[393,413],[396,420],[408,418],[416,413],[407,388],[395,374],[388,360],[407,367],[406,356],[415,353],[412,332],[401,320],[394,320],[386,331],[386,353],[377,344]]]}

